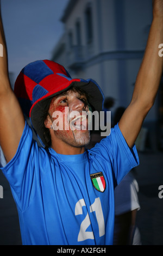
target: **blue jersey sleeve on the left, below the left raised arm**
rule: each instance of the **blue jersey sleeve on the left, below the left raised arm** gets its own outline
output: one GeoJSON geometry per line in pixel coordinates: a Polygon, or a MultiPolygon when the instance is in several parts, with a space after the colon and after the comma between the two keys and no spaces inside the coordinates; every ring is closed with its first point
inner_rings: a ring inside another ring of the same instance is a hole
{"type": "Polygon", "coordinates": [[[26,122],[15,156],[1,168],[9,181],[15,202],[22,211],[28,207],[29,201],[34,197],[36,190],[34,184],[36,179],[39,179],[34,165],[36,151],[39,151],[39,148],[33,140],[32,129],[26,122]]]}

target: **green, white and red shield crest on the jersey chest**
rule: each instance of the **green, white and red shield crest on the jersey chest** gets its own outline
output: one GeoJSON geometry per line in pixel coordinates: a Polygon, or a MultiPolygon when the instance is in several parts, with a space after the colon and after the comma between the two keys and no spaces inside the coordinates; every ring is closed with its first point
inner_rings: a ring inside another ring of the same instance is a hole
{"type": "Polygon", "coordinates": [[[94,173],[90,175],[92,184],[99,192],[104,192],[106,188],[105,179],[103,173],[94,173]]]}

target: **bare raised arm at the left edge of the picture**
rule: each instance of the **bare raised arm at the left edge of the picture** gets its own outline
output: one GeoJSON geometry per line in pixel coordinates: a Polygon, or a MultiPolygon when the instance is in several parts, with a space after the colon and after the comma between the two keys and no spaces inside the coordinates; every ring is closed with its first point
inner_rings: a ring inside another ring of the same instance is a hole
{"type": "Polygon", "coordinates": [[[1,15],[0,44],[3,45],[3,57],[0,57],[0,145],[5,159],[9,162],[14,157],[20,142],[24,117],[9,82],[7,47],[1,15]]]}

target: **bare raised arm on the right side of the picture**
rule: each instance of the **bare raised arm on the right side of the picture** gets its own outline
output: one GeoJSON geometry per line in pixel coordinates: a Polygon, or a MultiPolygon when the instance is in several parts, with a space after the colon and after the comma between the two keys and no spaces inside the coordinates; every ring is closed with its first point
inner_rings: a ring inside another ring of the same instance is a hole
{"type": "Polygon", "coordinates": [[[129,147],[135,143],[143,120],[154,104],[163,68],[159,45],[163,43],[163,0],[153,1],[153,21],[146,51],[136,78],[133,97],[120,122],[120,130],[129,147]]]}

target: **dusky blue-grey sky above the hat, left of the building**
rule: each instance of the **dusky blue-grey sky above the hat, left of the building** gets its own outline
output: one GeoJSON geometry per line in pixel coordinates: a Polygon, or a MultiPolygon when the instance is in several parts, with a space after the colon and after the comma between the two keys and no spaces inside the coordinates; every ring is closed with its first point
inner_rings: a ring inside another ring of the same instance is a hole
{"type": "Polygon", "coordinates": [[[60,18],[69,0],[1,0],[8,47],[9,71],[14,79],[37,59],[48,59],[64,25],[60,18]]]}

